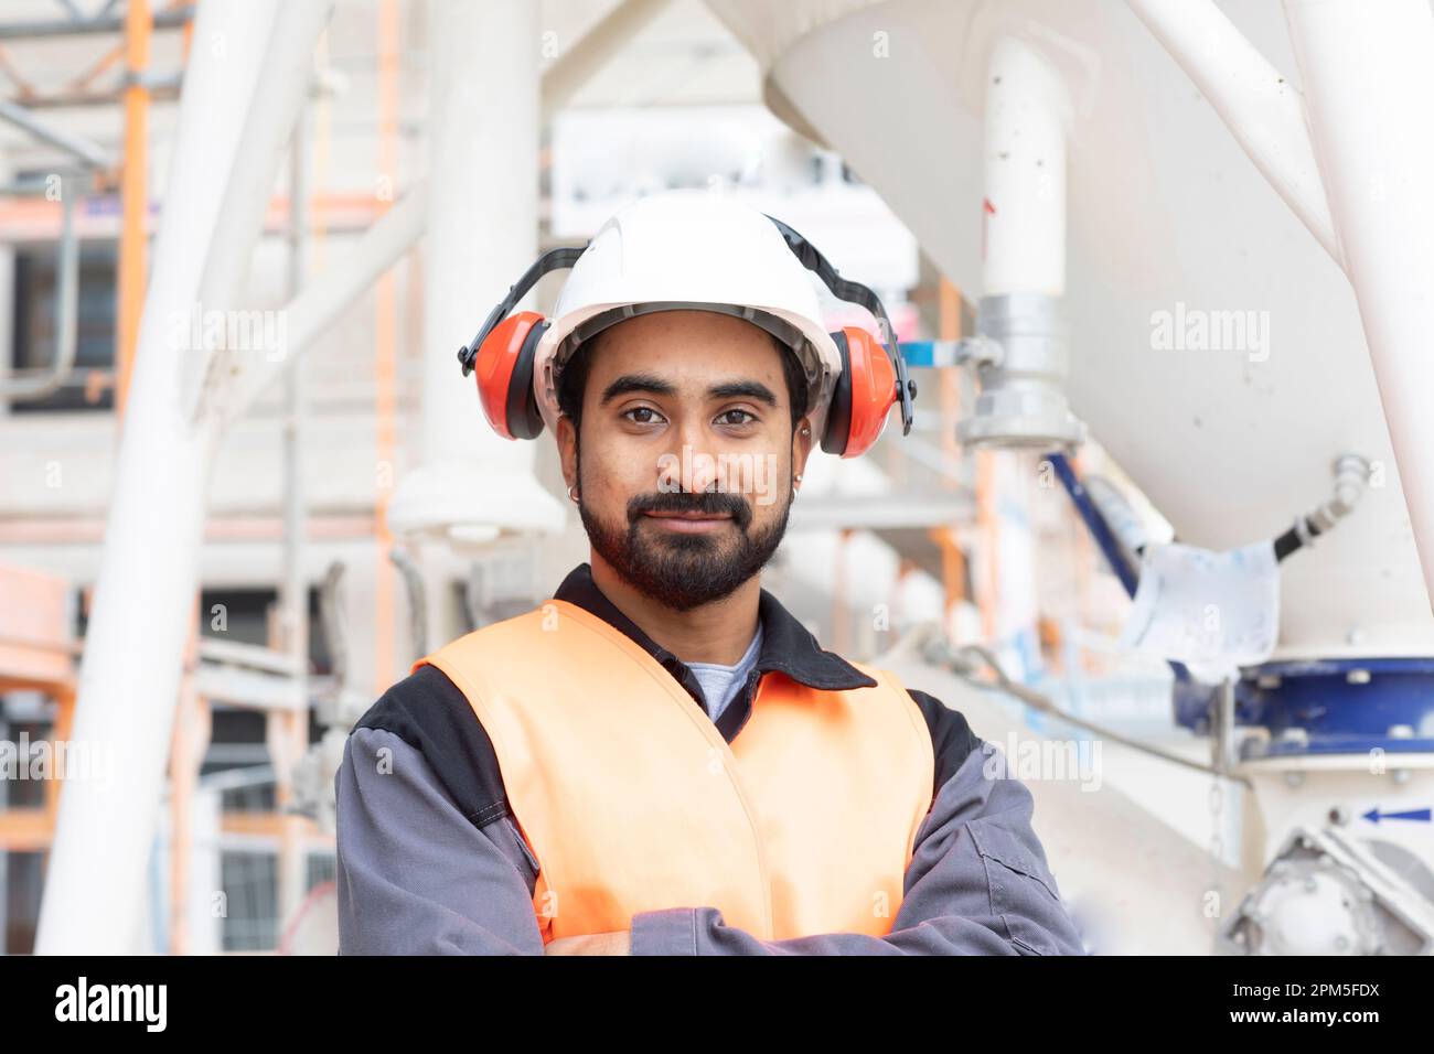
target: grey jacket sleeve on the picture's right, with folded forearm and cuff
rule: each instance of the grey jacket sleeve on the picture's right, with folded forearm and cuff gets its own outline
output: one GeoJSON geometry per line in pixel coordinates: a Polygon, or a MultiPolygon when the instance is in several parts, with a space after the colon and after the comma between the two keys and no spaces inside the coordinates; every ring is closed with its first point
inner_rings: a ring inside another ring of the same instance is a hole
{"type": "Polygon", "coordinates": [[[998,747],[945,780],[916,833],[892,931],[761,941],[717,908],[632,916],[634,955],[1086,955],[1031,827],[1031,792],[998,747]]]}

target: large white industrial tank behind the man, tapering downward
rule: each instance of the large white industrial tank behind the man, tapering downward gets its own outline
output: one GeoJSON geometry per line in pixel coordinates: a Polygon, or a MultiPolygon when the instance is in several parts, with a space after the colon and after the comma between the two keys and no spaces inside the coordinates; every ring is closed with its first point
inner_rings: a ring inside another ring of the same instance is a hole
{"type": "MultiPolygon", "coordinates": [[[[1281,533],[1328,499],[1339,455],[1368,459],[1375,475],[1357,511],[1281,565],[1275,657],[1434,654],[1349,281],[1126,4],[708,6],[757,56],[771,109],[839,151],[971,300],[989,293],[991,50],[1014,37],[1040,54],[1070,109],[1071,410],[1179,541],[1209,549],[1281,533]],[[1222,347],[1232,324],[1235,347],[1222,347]]],[[[1273,67],[1298,75],[1278,3],[1222,10],[1273,67]]]]}

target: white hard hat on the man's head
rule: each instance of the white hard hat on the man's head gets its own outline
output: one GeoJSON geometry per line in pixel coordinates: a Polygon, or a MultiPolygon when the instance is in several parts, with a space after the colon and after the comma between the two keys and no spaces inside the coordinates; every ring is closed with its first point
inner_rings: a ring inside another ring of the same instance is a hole
{"type": "Polygon", "coordinates": [[[533,359],[533,394],[558,429],[558,373],[582,341],[637,314],[694,308],[760,326],[806,371],[822,436],[842,359],[822,324],[810,272],[761,211],[721,192],[663,191],[627,205],[572,265],[533,359]]]}

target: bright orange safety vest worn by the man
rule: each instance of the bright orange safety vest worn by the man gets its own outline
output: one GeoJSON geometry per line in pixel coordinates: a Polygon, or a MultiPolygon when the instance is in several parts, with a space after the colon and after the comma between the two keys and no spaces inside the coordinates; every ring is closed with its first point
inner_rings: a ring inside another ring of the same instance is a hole
{"type": "Polygon", "coordinates": [[[641,645],[568,601],[426,663],[492,740],[545,944],[704,906],[766,941],[891,932],[935,773],[892,673],[853,663],[876,687],[822,691],[769,671],[728,744],[641,645]]]}

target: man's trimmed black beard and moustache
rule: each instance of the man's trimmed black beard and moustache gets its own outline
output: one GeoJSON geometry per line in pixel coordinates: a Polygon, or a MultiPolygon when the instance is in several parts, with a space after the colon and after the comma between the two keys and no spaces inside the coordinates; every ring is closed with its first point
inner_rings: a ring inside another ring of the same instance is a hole
{"type": "Polygon", "coordinates": [[[618,576],[673,611],[691,611],[730,595],[771,559],[787,531],[792,495],[782,509],[782,519],[771,526],[749,533],[751,509],[736,493],[716,490],[660,492],[640,495],[628,502],[627,531],[617,531],[599,522],[582,500],[582,462],[578,460],[578,515],[588,532],[594,551],[605,559],[618,576]],[[640,539],[645,512],[711,512],[731,515],[737,532],[733,546],[726,529],[708,533],[661,532],[654,539],[640,539]]]}

